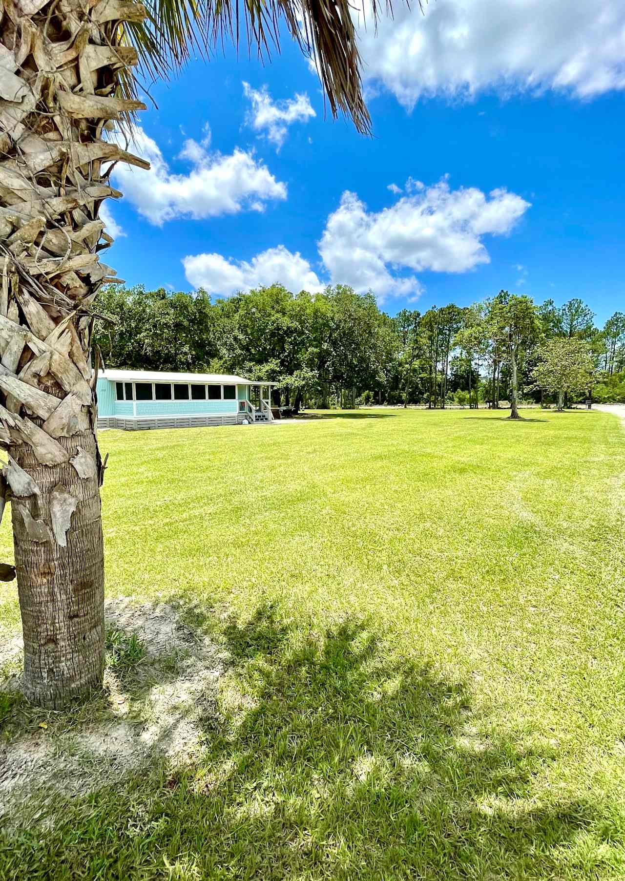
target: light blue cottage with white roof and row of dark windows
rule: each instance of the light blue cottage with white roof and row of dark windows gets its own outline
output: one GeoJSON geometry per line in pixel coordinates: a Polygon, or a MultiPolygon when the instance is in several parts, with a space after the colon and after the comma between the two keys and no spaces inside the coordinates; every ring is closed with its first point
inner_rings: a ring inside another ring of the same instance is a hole
{"type": "Polygon", "coordinates": [[[105,370],[98,377],[100,428],[190,428],[271,422],[271,386],[226,374],[105,370]]]}

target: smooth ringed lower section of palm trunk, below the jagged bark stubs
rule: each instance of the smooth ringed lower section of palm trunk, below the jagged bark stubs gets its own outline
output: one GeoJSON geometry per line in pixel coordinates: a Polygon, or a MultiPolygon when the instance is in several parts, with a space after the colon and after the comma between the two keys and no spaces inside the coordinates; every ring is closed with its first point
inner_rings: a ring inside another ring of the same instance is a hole
{"type": "MultiPolygon", "coordinates": [[[[60,443],[70,455],[79,446],[95,460],[92,430],[60,443]]],[[[98,475],[93,470],[81,478],[71,463],[42,465],[25,444],[16,451],[16,466],[40,489],[38,495],[14,498],[11,504],[24,691],[28,700],[61,707],[102,679],[104,553],[98,475]]]]}

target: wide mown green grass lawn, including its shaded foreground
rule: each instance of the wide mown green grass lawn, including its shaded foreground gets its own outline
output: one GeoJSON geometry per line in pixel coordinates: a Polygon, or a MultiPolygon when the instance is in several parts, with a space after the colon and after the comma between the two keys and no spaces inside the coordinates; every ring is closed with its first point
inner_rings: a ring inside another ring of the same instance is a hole
{"type": "Polygon", "coordinates": [[[108,596],[227,669],[193,760],[57,796],[0,877],[625,877],[625,433],[504,415],[101,433],[108,596]]]}

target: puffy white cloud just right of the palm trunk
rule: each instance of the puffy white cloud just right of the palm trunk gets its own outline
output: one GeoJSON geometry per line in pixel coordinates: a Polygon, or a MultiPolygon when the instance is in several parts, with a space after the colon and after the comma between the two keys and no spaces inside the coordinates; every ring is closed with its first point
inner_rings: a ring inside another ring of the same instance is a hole
{"type": "MultiPolygon", "coordinates": [[[[180,152],[179,158],[191,165],[189,173],[173,174],[156,141],[143,129],[136,130],[129,149],[150,161],[150,171],[120,164],[113,174],[143,217],[161,226],[173,218],[264,211],[269,200],[286,198],[286,185],[276,181],[252,153],[239,149],[227,156],[210,152],[210,131],[206,127],[204,135],[199,143],[185,141],[180,152]]],[[[121,140],[119,135],[116,137],[121,140]]]]}

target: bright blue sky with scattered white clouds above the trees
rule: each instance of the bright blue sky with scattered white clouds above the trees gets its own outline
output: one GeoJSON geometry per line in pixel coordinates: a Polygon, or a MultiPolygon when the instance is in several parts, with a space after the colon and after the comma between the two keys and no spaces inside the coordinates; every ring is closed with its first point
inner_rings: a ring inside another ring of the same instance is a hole
{"type": "Polygon", "coordinates": [[[344,282],[388,312],[507,288],[625,309],[625,7],[437,0],[362,32],[374,137],[288,37],[151,87],[107,204],[128,284],[216,296],[344,282]],[[244,85],[247,84],[247,85],[244,85]],[[394,186],[393,186],[394,185],[394,186]],[[391,189],[389,189],[391,187],[391,189]]]}

